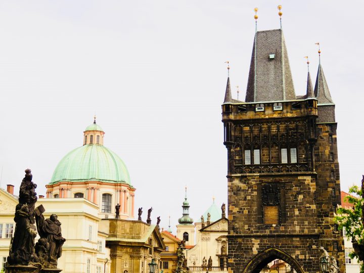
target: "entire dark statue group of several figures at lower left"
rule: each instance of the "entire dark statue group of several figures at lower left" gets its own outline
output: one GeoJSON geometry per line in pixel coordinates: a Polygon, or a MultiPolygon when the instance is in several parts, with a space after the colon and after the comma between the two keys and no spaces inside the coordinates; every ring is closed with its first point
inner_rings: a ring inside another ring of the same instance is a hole
{"type": "Polygon", "coordinates": [[[61,271],[57,268],[57,260],[62,255],[62,245],[66,241],[61,234],[61,222],[56,214],[45,219],[43,206],[35,208],[37,201],[36,184],[32,182],[30,169],[25,170],[19,190],[19,204],[15,207],[15,231],[11,239],[7,270],[11,272],[61,271]],[[36,227],[35,227],[36,224],[36,227]],[[35,237],[39,240],[35,244],[35,237]],[[30,266],[31,268],[26,268],[30,266]]]}

